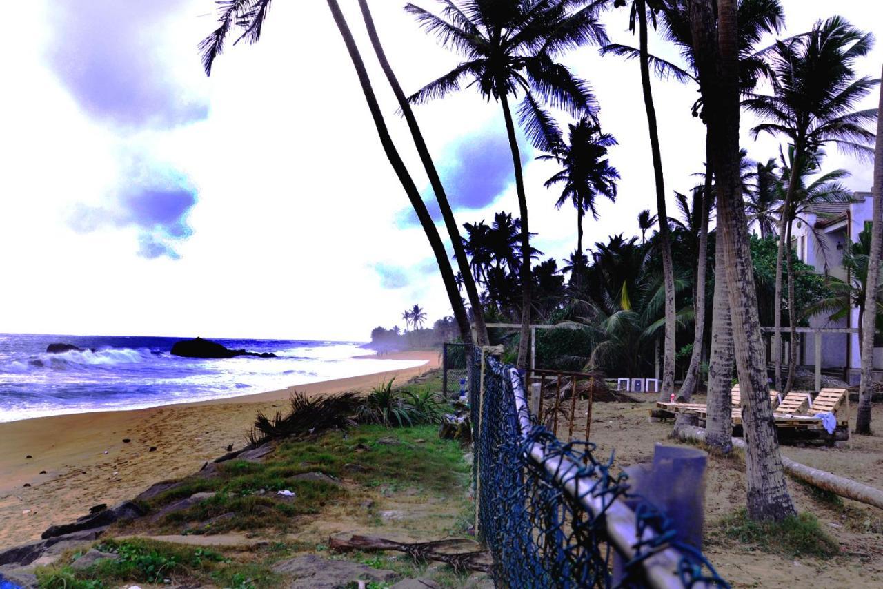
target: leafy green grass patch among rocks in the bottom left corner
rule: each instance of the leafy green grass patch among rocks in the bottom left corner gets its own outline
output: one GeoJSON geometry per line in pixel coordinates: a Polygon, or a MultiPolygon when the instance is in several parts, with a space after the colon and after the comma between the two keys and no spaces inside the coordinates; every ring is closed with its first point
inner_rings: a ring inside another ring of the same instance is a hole
{"type": "Polygon", "coordinates": [[[264,564],[234,562],[205,547],[186,547],[148,539],[105,540],[95,546],[114,555],[85,570],[72,562],[81,553],[35,571],[42,589],[102,589],[123,583],[152,585],[217,585],[233,589],[275,586],[279,578],[264,564]]]}

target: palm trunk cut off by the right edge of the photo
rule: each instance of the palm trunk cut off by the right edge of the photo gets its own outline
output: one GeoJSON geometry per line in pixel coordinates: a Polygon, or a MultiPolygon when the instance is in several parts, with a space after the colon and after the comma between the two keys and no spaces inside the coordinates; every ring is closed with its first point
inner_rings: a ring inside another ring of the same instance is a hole
{"type": "MultiPolygon", "coordinates": [[[[880,91],[880,112],[883,112],[883,90],[880,91]]],[[[862,317],[862,377],[858,388],[856,433],[871,433],[871,394],[873,393],[874,332],[877,323],[877,284],[881,250],[883,250],[883,119],[877,119],[877,149],[874,151],[873,213],[871,252],[868,256],[868,278],[864,287],[862,317]]]]}

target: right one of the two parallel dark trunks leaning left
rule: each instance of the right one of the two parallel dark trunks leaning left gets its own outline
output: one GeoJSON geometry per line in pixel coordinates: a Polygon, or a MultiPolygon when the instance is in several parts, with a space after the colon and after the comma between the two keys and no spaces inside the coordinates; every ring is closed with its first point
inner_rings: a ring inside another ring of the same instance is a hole
{"type": "MultiPolygon", "coordinates": [[[[420,132],[420,127],[417,124],[417,119],[414,117],[411,103],[409,103],[407,97],[404,96],[404,91],[402,90],[401,84],[398,83],[396,73],[393,72],[392,66],[389,65],[389,60],[387,59],[386,53],[381,45],[380,36],[377,34],[376,27],[374,27],[374,18],[371,16],[371,11],[368,9],[368,3],[366,0],[358,0],[358,5],[362,9],[362,18],[365,19],[365,26],[368,30],[368,37],[371,39],[371,44],[374,47],[374,53],[377,54],[377,59],[380,61],[381,67],[383,68],[383,73],[386,74],[387,80],[389,80],[389,86],[392,87],[392,91],[396,95],[396,100],[398,101],[399,107],[402,109],[404,119],[408,122],[408,127],[411,129],[411,137],[414,140],[414,145],[417,147],[420,161],[423,163],[423,168],[426,170],[426,176],[429,178],[429,183],[433,187],[435,200],[439,203],[439,210],[442,211],[442,218],[444,219],[445,227],[448,229],[451,245],[454,248],[454,256],[457,258],[457,267],[460,271],[460,276],[463,278],[466,296],[469,298],[470,306],[472,306],[472,319],[475,321],[478,344],[479,346],[487,346],[489,343],[487,338],[487,326],[485,326],[485,315],[481,308],[479,291],[475,286],[475,280],[472,279],[472,272],[470,272],[469,269],[469,259],[466,257],[466,252],[463,249],[463,240],[461,239],[460,231],[457,228],[457,220],[454,218],[454,212],[450,208],[448,195],[445,193],[444,186],[442,185],[442,179],[439,177],[438,171],[435,169],[432,156],[429,155],[429,149],[426,147],[426,141],[424,141],[423,134],[420,132]]],[[[472,341],[472,338],[464,341],[472,341]]]]}

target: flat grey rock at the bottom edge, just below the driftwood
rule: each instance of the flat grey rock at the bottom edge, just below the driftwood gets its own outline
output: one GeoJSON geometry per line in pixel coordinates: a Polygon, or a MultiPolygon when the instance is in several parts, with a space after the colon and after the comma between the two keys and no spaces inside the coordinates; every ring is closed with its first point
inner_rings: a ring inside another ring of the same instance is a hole
{"type": "Polygon", "coordinates": [[[331,561],[318,555],[295,556],[277,562],[273,572],[291,577],[291,589],[338,589],[357,580],[389,583],[396,578],[392,570],[372,569],[358,562],[331,561]]]}

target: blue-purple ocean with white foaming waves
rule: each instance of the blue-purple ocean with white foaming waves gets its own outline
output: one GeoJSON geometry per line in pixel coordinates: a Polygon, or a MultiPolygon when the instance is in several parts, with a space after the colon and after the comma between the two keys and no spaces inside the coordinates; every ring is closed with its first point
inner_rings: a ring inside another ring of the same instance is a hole
{"type": "Polygon", "coordinates": [[[213,339],[278,357],[172,356],[172,344],[182,339],[0,334],[0,422],[223,399],[423,363],[359,359],[374,351],[346,341],[213,339]],[[50,343],[87,351],[47,354],[50,343]]]}

